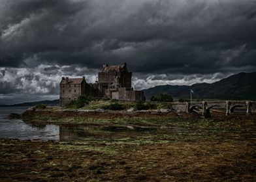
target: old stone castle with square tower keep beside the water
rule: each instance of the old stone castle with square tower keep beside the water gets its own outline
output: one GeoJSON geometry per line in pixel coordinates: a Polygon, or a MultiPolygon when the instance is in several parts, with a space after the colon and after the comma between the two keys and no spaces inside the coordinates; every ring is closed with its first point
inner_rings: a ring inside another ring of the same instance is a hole
{"type": "Polygon", "coordinates": [[[117,66],[104,64],[102,72],[98,73],[98,81],[95,83],[86,83],[85,77],[62,77],[59,84],[61,107],[68,105],[81,95],[122,101],[144,100],[144,93],[133,90],[131,87],[131,77],[132,73],[128,71],[126,63],[117,66]]]}

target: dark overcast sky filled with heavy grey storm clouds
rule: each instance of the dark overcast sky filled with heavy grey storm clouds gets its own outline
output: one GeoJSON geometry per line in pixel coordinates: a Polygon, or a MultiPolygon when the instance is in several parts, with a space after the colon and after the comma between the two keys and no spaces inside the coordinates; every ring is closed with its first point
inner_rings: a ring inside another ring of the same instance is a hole
{"type": "Polygon", "coordinates": [[[136,89],[256,70],[255,0],[0,0],[0,104],[127,62],[136,89]]]}

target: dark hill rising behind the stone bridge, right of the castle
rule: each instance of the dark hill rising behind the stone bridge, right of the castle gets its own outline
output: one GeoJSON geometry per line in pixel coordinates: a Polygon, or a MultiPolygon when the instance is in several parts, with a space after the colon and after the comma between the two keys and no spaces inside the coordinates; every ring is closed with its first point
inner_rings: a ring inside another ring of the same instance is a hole
{"type": "Polygon", "coordinates": [[[256,72],[238,73],[215,83],[197,83],[191,86],[163,85],[144,91],[146,98],[170,94],[173,98],[189,98],[190,89],[195,99],[250,99],[256,100],[256,72]]]}

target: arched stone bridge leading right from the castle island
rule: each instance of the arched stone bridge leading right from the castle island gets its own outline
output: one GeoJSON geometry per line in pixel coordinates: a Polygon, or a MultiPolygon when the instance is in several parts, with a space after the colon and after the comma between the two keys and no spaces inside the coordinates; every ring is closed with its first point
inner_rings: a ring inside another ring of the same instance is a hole
{"type": "Polygon", "coordinates": [[[246,114],[256,112],[256,101],[200,101],[200,102],[186,102],[186,103],[172,103],[172,108],[181,112],[193,112],[199,108],[202,110],[202,116],[209,118],[210,110],[213,108],[221,108],[226,110],[226,115],[234,112],[236,107],[243,107],[246,109],[246,114]]]}

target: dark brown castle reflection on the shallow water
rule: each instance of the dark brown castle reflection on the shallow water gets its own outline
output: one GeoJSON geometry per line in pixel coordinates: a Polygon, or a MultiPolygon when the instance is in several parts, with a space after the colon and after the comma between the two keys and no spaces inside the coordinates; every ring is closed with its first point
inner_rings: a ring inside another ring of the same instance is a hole
{"type": "Polygon", "coordinates": [[[59,140],[136,140],[145,136],[187,133],[180,127],[146,127],[135,125],[59,125],[59,140]]]}

